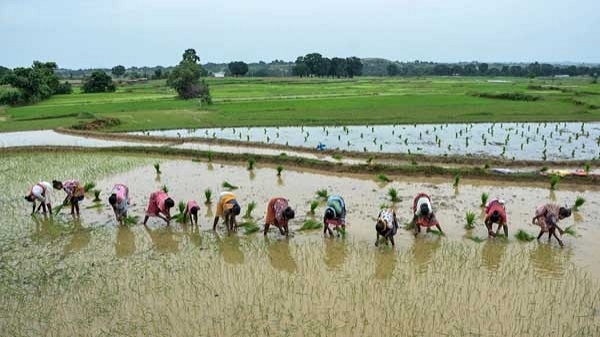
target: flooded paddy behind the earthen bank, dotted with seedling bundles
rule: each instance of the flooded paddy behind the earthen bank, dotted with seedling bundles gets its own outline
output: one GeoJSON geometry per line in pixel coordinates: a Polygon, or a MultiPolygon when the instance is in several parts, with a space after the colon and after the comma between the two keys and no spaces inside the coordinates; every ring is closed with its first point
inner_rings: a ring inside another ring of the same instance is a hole
{"type": "Polygon", "coordinates": [[[356,152],[472,155],[515,160],[592,160],[600,157],[600,123],[476,123],[252,127],[132,132],[218,138],[356,152]]]}

